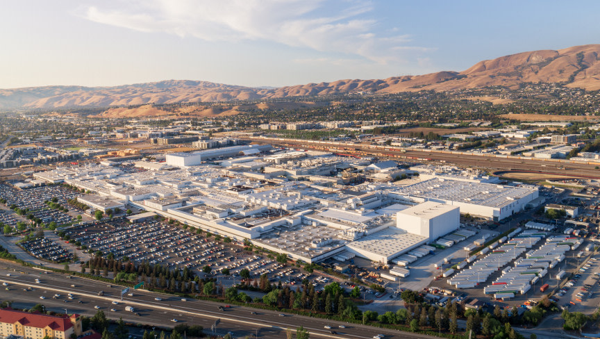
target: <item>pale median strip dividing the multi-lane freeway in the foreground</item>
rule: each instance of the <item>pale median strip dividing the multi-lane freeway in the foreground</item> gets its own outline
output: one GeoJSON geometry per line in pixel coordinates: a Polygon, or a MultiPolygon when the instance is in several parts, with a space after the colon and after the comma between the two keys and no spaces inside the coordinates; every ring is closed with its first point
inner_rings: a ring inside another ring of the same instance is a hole
{"type": "MultiPolygon", "coordinates": [[[[73,290],[63,290],[63,288],[61,286],[53,286],[53,285],[49,285],[49,284],[31,284],[28,281],[15,281],[17,279],[11,279],[8,280],[6,279],[6,282],[10,282],[10,283],[15,283],[17,285],[22,285],[22,286],[27,286],[27,287],[35,287],[38,289],[44,289],[44,290],[52,290],[55,292],[63,292],[63,293],[69,293],[69,292],[74,292],[73,290]]],[[[4,282],[3,280],[0,280],[2,282],[4,282]]],[[[81,292],[79,292],[81,294],[81,292]]],[[[100,296],[100,295],[85,295],[85,297],[91,297],[94,299],[101,299],[101,300],[106,300],[106,301],[119,301],[119,299],[117,298],[112,298],[112,297],[104,297],[104,296],[100,296]]],[[[227,317],[224,317],[223,313],[219,313],[219,312],[214,312],[214,311],[203,311],[203,310],[194,310],[194,308],[189,308],[189,307],[182,307],[182,306],[178,306],[178,308],[173,308],[173,306],[171,307],[165,307],[165,306],[160,306],[157,305],[158,303],[152,302],[152,301],[133,301],[133,300],[128,300],[129,304],[133,304],[133,305],[138,305],[138,306],[149,306],[149,307],[153,307],[153,308],[159,308],[161,310],[166,310],[166,311],[181,311],[183,313],[189,313],[191,315],[195,315],[198,317],[209,317],[211,319],[219,319],[219,318],[224,318],[226,320],[229,320],[231,322],[240,322],[242,324],[249,324],[249,325],[253,325],[253,326],[267,326],[267,327],[274,327],[277,329],[288,329],[290,328],[290,326],[296,326],[296,325],[292,325],[292,324],[285,324],[283,322],[274,322],[272,320],[263,320],[263,323],[260,322],[256,322],[256,320],[254,320],[253,318],[249,318],[249,317],[243,317],[240,315],[227,315],[227,317]],[[184,308],[184,309],[181,309],[184,308]],[[192,310],[192,311],[186,311],[186,309],[188,310],[192,310]],[[203,313],[197,313],[197,312],[203,312],[203,313]],[[217,315],[208,315],[205,313],[213,313],[213,314],[217,314],[217,315]],[[239,319],[236,319],[239,318],[239,319]],[[242,320],[243,319],[243,320],[242,320]],[[249,320],[253,320],[253,321],[249,321],[249,320]],[[264,322],[270,323],[270,324],[265,324],[264,322]],[[276,325],[272,325],[272,324],[276,324],[276,325]],[[283,327],[282,327],[283,326],[283,327]]],[[[322,329],[315,329],[315,328],[310,328],[310,327],[305,327],[305,329],[308,330],[313,330],[313,331],[320,331],[320,332],[324,332],[324,330],[322,329]]],[[[339,336],[335,336],[332,335],[331,333],[320,333],[320,332],[310,332],[310,334],[313,334],[315,336],[324,336],[326,338],[339,338],[339,339],[345,339],[346,337],[339,337],[339,336]]],[[[340,333],[341,334],[341,333],[340,333]]],[[[369,338],[369,337],[363,337],[363,336],[356,336],[353,334],[344,334],[344,336],[351,336],[354,338],[369,338]]]]}

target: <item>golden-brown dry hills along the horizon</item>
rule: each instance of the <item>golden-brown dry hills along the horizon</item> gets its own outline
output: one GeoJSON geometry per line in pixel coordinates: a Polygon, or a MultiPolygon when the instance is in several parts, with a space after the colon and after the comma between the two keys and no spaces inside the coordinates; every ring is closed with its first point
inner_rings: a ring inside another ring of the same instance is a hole
{"type": "Polygon", "coordinates": [[[600,44],[530,51],[476,63],[462,72],[437,72],[379,80],[339,80],[282,88],[249,88],[208,81],[169,80],[115,87],[44,86],[0,90],[0,109],[137,106],[319,96],[352,92],[396,93],[458,90],[519,83],[563,83],[600,89],[600,44]]]}

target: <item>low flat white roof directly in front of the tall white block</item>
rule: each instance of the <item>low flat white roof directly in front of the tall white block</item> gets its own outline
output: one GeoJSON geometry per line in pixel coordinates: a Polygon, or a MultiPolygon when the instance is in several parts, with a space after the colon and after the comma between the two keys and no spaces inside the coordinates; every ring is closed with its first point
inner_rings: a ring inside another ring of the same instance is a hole
{"type": "Polygon", "coordinates": [[[394,256],[401,254],[402,251],[411,249],[415,245],[420,245],[428,240],[422,235],[407,233],[395,227],[388,227],[382,231],[378,231],[372,235],[354,240],[347,247],[369,251],[379,256],[394,256]]]}

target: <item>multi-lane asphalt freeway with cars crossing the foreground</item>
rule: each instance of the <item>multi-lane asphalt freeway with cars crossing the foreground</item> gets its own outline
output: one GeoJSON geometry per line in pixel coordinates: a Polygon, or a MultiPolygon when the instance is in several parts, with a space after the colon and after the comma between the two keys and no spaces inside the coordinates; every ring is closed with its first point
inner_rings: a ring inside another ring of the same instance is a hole
{"type": "Polygon", "coordinates": [[[2,261],[0,263],[0,282],[8,283],[8,286],[3,287],[8,287],[10,290],[0,290],[0,298],[15,301],[13,304],[15,308],[29,308],[34,304],[42,304],[49,311],[65,313],[66,308],[67,313],[79,313],[90,317],[97,311],[94,306],[99,306],[99,309],[103,310],[110,319],[117,320],[122,317],[126,322],[156,326],[174,326],[175,323],[170,320],[176,319],[181,323],[201,325],[207,333],[215,320],[219,319],[217,334],[224,335],[228,331],[233,331],[235,338],[258,334],[258,338],[279,339],[285,336],[285,329],[289,328],[295,331],[299,326],[308,329],[312,337],[322,338],[367,339],[380,333],[385,334],[385,338],[428,338],[428,336],[419,334],[344,324],[289,313],[280,316],[279,314],[282,313],[241,306],[232,305],[231,308],[225,308],[226,311],[219,311],[218,306],[224,304],[196,299],[182,301],[180,297],[144,290],[133,290],[133,297],[125,295],[121,301],[122,286],[111,284],[109,287],[107,283],[99,281],[79,277],[67,279],[65,274],[45,272],[47,271],[2,261]],[[41,282],[35,283],[35,279],[40,279],[41,282]],[[27,290],[29,287],[33,290],[27,290]],[[103,290],[103,296],[98,295],[100,290],[103,290]],[[69,293],[72,293],[73,299],[67,298],[69,293]],[[53,299],[55,294],[60,297],[53,299]],[[44,299],[40,299],[40,297],[44,297],[44,299]],[[162,300],[157,301],[156,297],[160,297],[162,300]],[[113,301],[117,301],[119,304],[115,305],[112,303],[113,301]],[[133,306],[135,312],[140,315],[124,311],[125,306],[133,306]],[[113,308],[115,311],[110,311],[113,308]],[[251,312],[257,314],[253,315],[251,312]],[[346,325],[347,328],[340,329],[340,324],[346,325]],[[324,329],[326,325],[331,326],[332,329],[324,329]],[[331,334],[330,331],[336,331],[338,334],[331,334]]]}

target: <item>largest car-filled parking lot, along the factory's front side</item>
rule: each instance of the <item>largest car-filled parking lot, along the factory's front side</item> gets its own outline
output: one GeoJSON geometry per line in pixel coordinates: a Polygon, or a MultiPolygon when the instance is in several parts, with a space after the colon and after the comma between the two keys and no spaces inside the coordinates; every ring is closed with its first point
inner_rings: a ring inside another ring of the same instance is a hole
{"type": "Polygon", "coordinates": [[[163,264],[169,267],[188,267],[202,275],[204,266],[211,268],[211,274],[220,276],[223,283],[240,281],[240,271],[247,269],[252,279],[267,274],[269,281],[294,286],[303,279],[319,286],[328,282],[317,274],[308,274],[297,267],[290,268],[278,263],[274,258],[259,256],[244,251],[239,242],[225,243],[206,234],[196,234],[176,226],[149,220],[138,224],[128,224],[122,218],[109,222],[92,222],[74,226],[67,232],[76,243],[85,245],[103,255],[113,254],[117,259],[125,257],[138,263],[163,264]],[[221,276],[224,270],[229,276],[221,276]]]}

